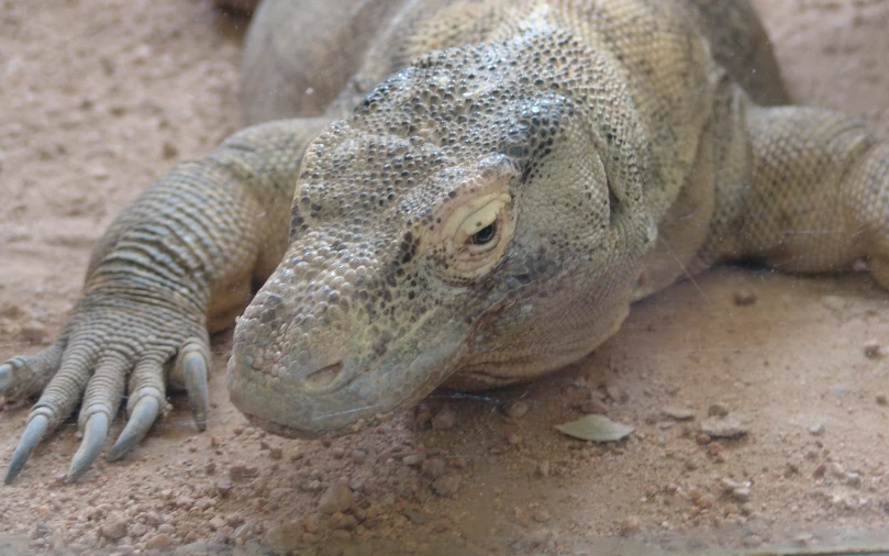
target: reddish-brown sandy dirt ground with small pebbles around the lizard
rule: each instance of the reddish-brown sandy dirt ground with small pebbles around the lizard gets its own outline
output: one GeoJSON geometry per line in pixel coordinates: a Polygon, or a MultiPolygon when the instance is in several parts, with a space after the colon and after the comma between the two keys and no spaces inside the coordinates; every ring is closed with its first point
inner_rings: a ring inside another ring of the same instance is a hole
{"type": "MultiPolygon", "coordinates": [[[[889,135],[889,1],[757,4],[797,102],[889,135]]],[[[0,360],[59,332],[123,205],[237,129],[242,31],[204,0],[0,0],[0,360]]],[[[207,432],[174,396],[129,458],[68,485],[69,421],[0,487],[0,552],[689,554],[889,534],[889,294],[863,274],[718,269],[551,378],[440,392],[332,443],[248,427],[229,342],[207,432]],[[591,411],[635,432],[555,431],[591,411]],[[701,432],[723,411],[746,434],[701,432]]],[[[3,466],[26,413],[0,411],[3,466]]]]}

